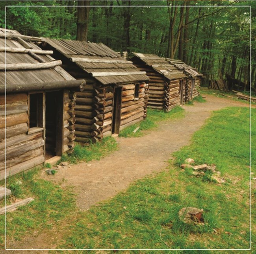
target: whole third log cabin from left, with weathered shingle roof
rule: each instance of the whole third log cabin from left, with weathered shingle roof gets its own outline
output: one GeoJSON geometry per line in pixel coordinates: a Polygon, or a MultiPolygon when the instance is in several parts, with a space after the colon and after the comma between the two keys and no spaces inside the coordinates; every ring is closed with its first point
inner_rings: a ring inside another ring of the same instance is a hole
{"type": "Polygon", "coordinates": [[[169,112],[185,102],[186,74],[158,55],[133,54],[132,63],[150,78],[148,107],[169,112]]]}

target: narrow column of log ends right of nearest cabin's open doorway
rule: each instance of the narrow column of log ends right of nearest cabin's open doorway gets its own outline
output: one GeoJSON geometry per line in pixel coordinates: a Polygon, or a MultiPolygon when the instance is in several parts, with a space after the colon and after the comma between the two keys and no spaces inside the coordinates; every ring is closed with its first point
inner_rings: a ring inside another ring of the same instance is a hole
{"type": "Polygon", "coordinates": [[[72,153],[75,136],[75,106],[76,94],[64,91],[64,126],[63,126],[63,152],[72,153]]]}

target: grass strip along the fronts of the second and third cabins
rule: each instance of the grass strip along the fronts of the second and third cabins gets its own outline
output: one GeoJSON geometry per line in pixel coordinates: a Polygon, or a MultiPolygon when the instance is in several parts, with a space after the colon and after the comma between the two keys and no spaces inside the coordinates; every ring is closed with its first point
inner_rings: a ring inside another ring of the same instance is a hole
{"type": "Polygon", "coordinates": [[[120,137],[128,138],[128,137],[138,137],[143,136],[145,130],[154,129],[158,125],[157,123],[160,121],[165,121],[169,119],[178,119],[185,116],[185,110],[181,107],[175,107],[170,112],[166,113],[163,110],[156,109],[147,109],[147,118],[140,123],[136,123],[131,125],[119,134],[120,137]],[[133,131],[139,127],[138,131],[133,133],[133,131]]]}

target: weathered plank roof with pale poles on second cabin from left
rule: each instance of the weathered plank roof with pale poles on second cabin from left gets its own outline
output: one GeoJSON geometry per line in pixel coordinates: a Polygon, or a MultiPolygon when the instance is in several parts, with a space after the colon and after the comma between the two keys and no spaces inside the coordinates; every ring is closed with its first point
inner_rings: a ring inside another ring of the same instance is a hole
{"type": "Polygon", "coordinates": [[[48,38],[45,42],[103,85],[149,79],[146,72],[139,71],[131,61],[126,61],[103,43],[48,38]]]}

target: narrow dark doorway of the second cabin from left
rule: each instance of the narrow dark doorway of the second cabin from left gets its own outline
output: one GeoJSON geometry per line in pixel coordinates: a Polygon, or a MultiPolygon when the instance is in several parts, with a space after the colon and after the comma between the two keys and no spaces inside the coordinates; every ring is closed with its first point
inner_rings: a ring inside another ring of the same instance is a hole
{"type": "Polygon", "coordinates": [[[122,108],[122,87],[114,88],[112,134],[119,134],[122,108]]]}

